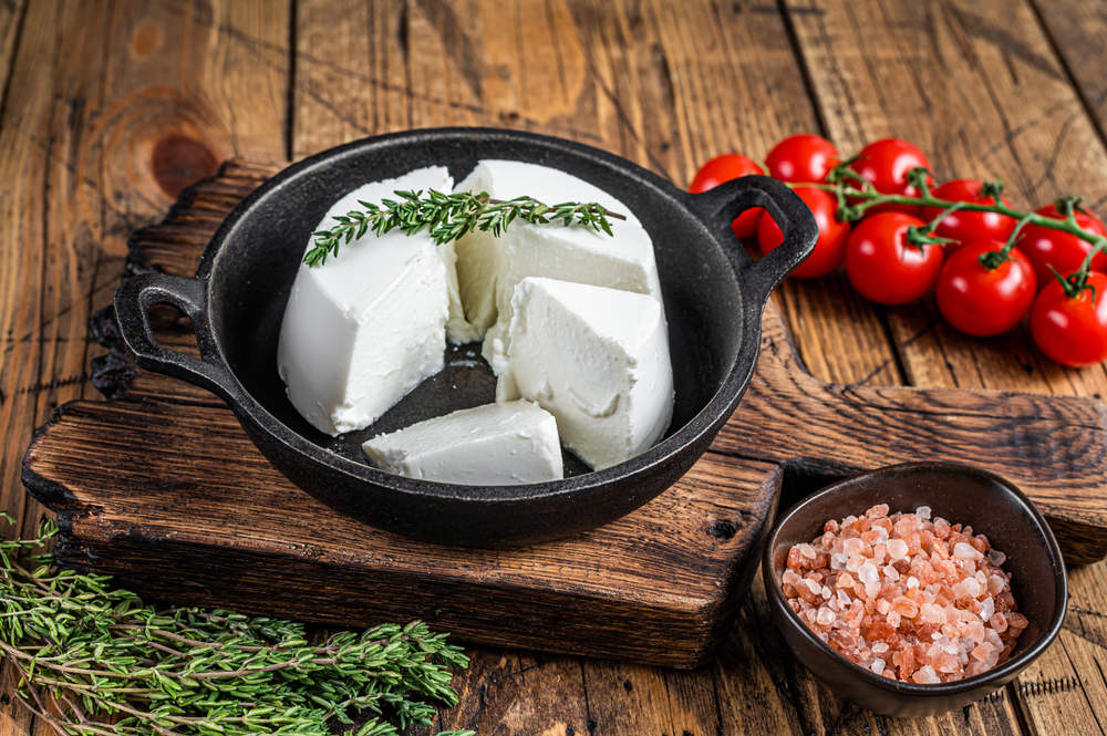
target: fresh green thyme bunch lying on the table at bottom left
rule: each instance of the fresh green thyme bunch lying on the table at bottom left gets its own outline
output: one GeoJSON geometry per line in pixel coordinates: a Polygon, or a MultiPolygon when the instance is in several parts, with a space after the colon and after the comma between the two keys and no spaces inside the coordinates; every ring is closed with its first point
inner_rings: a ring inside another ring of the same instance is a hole
{"type": "MultiPolygon", "coordinates": [[[[13,519],[0,512],[9,522],[13,519]]],[[[56,734],[387,736],[455,705],[461,649],[420,622],[308,642],[303,625],[229,611],[155,611],[106,576],[32,554],[56,533],[0,542],[0,654],[17,696],[56,734]],[[107,716],[115,723],[106,723],[107,716]],[[360,726],[355,718],[368,717],[360,726]]],[[[448,732],[439,736],[472,736],[448,732]]]]}

